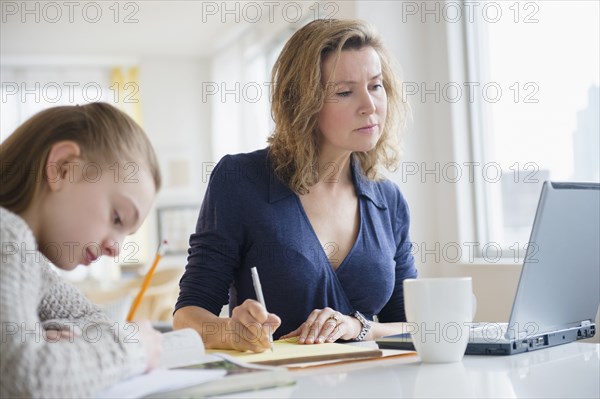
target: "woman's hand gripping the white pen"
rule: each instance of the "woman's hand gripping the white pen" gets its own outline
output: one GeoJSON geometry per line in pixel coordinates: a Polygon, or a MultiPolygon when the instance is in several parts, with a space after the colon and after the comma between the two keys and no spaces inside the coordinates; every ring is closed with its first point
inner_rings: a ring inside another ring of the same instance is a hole
{"type": "Polygon", "coordinates": [[[281,319],[257,301],[247,299],[233,309],[227,322],[231,347],[239,351],[264,352],[271,348],[273,332],[281,325],[281,319]]]}

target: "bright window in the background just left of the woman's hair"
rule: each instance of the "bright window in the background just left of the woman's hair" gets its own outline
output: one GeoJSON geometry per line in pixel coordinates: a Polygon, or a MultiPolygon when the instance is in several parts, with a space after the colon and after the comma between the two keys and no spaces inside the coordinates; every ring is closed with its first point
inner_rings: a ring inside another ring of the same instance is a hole
{"type": "Polygon", "coordinates": [[[211,106],[215,160],[267,146],[274,129],[271,69],[293,32],[248,30],[213,57],[211,81],[203,82],[203,98],[211,106]]]}

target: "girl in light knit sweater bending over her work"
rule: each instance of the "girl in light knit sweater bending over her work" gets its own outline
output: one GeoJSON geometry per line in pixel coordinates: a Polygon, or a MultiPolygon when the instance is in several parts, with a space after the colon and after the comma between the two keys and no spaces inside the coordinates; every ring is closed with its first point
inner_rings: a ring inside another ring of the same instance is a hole
{"type": "Polygon", "coordinates": [[[141,225],[161,182],[142,129],[108,104],[55,107],[0,163],[0,397],[87,397],[154,367],[148,322],[111,322],[50,268],[116,257],[141,225]]]}

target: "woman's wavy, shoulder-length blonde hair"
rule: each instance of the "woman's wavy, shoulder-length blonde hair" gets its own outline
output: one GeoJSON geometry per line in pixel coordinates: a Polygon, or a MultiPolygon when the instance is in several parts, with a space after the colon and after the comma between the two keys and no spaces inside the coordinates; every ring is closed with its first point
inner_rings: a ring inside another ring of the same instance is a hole
{"type": "Polygon", "coordinates": [[[380,180],[378,166],[397,167],[400,133],[409,114],[391,57],[374,30],[360,20],[319,19],[298,30],[285,44],[272,71],[271,113],[275,131],[269,137],[269,154],[275,174],[299,194],[318,182],[318,117],[327,96],[331,76],[324,86],[321,67],[333,55],[334,69],[344,50],[372,47],[381,61],[387,94],[387,117],[375,148],[355,153],[363,173],[380,180]]]}

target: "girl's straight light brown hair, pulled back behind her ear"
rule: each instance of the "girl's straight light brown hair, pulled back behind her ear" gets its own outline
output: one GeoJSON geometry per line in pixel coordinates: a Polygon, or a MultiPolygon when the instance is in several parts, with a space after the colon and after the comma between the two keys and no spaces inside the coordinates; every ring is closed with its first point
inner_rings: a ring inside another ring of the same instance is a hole
{"type": "Polygon", "coordinates": [[[101,168],[117,162],[119,177],[127,174],[122,168],[128,162],[148,167],[156,191],[160,189],[156,154],[133,119],[106,103],[60,106],[32,116],[0,144],[0,206],[21,213],[31,205],[46,183],[50,149],[64,140],[79,145],[85,162],[101,168]]]}

